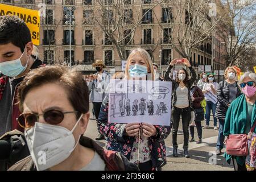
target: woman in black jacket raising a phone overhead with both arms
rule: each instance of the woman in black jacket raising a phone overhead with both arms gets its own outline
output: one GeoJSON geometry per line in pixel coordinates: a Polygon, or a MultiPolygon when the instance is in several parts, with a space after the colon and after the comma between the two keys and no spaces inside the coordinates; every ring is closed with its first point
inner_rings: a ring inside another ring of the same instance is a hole
{"type": "Polygon", "coordinates": [[[179,123],[180,123],[180,115],[182,117],[182,127],[183,127],[183,133],[184,133],[184,156],[185,158],[189,158],[188,154],[188,138],[189,138],[189,132],[188,132],[188,126],[189,121],[191,119],[191,107],[192,107],[192,100],[190,95],[190,88],[193,85],[193,82],[196,80],[196,72],[191,67],[191,64],[187,59],[181,59],[181,62],[178,62],[177,59],[172,60],[166,74],[164,75],[164,80],[166,81],[172,81],[172,88],[174,90],[174,94],[172,97],[172,121],[174,122],[174,128],[172,129],[172,144],[174,147],[174,157],[177,157],[177,130],[179,129],[179,123]],[[181,68],[177,72],[176,80],[172,80],[172,77],[170,76],[170,72],[172,67],[174,67],[175,64],[185,64],[189,70],[192,73],[192,77],[189,78],[188,72],[186,69],[181,68]]]}

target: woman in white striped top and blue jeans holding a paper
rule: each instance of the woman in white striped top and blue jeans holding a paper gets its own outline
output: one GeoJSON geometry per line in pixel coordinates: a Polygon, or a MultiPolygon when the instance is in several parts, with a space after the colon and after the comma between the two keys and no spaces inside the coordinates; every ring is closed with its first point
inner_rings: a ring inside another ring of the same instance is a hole
{"type": "Polygon", "coordinates": [[[214,81],[214,75],[212,73],[208,74],[205,81],[206,83],[203,86],[203,93],[205,96],[205,101],[207,102],[206,114],[205,114],[205,118],[207,119],[207,121],[206,121],[206,125],[204,126],[204,129],[209,129],[210,110],[212,110],[214,130],[218,130],[217,118],[215,117],[215,110],[217,106],[218,83],[214,81]]]}

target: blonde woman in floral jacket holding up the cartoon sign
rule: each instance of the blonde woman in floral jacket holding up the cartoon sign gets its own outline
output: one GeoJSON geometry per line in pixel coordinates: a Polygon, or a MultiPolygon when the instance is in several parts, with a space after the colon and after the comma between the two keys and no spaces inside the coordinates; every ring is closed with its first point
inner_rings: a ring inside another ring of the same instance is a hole
{"type": "MultiPolygon", "coordinates": [[[[137,48],[131,51],[125,76],[127,80],[154,80],[151,57],[146,50],[137,48]]],[[[108,103],[109,96],[102,103],[97,121],[98,130],[107,138],[106,148],[122,152],[141,171],[160,170],[166,164],[164,139],[170,134],[170,126],[155,126],[140,121],[129,124],[109,123],[108,103]]]]}

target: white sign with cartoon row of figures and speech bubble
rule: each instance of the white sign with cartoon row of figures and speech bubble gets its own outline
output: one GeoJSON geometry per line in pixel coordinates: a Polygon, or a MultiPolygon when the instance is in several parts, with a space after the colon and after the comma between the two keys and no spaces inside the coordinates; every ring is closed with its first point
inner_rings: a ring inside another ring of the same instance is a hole
{"type": "Polygon", "coordinates": [[[172,82],[110,80],[110,123],[170,126],[172,82]]]}

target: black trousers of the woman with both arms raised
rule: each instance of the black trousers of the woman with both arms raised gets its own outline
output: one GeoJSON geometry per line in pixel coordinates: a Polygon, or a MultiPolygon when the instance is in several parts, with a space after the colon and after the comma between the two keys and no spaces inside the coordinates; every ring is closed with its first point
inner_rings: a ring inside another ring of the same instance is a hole
{"type": "Polygon", "coordinates": [[[189,132],[188,132],[188,126],[189,121],[191,119],[191,109],[190,107],[185,107],[183,109],[180,109],[178,107],[172,107],[172,122],[174,127],[172,128],[172,145],[177,146],[177,131],[179,129],[179,123],[180,123],[180,116],[182,118],[182,129],[183,129],[183,135],[184,135],[184,147],[188,147],[188,138],[189,138],[189,132]]]}

